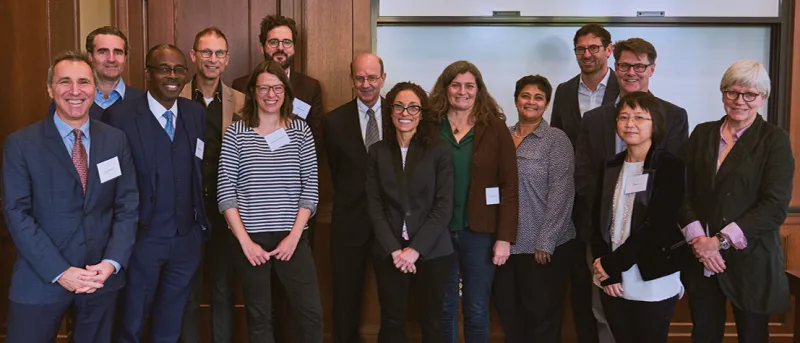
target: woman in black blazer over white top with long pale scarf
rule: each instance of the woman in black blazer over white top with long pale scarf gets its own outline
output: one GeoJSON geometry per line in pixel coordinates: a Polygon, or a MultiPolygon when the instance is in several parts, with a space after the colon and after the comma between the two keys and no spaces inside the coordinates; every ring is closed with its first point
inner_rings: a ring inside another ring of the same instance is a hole
{"type": "Polygon", "coordinates": [[[664,112],[650,93],[622,97],[617,134],[627,149],[606,159],[592,223],[594,274],[618,343],[666,342],[683,294],[680,265],[691,257],[678,228],[684,165],[657,148],[664,112]]]}

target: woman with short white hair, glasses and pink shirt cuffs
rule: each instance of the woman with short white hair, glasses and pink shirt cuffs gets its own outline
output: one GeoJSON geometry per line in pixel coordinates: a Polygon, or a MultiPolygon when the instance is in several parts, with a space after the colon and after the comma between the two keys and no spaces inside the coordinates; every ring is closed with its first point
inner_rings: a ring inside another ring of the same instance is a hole
{"type": "Polygon", "coordinates": [[[681,226],[699,260],[683,275],[692,339],[722,342],[730,301],[739,342],[767,342],[769,315],[789,310],[780,226],[794,157],[786,131],[758,113],[770,93],[763,65],[733,63],[720,90],[725,116],[698,125],[685,145],[681,226]]]}

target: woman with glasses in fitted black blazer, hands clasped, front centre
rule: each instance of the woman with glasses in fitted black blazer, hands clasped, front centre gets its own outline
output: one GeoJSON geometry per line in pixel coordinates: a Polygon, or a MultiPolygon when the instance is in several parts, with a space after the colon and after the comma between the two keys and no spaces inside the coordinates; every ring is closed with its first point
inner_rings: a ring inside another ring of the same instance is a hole
{"type": "Polygon", "coordinates": [[[442,342],[442,302],[452,262],[453,161],[425,91],[401,82],[386,95],[383,140],[369,148],[367,202],[381,304],[378,342],[406,342],[408,295],[417,295],[423,342],[442,342]]]}

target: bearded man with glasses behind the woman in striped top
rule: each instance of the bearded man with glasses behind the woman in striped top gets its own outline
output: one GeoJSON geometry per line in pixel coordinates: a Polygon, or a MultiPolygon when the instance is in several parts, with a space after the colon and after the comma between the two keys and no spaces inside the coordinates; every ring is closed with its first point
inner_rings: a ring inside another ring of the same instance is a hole
{"type": "MultiPolygon", "coordinates": [[[[261,52],[264,60],[273,59],[283,66],[294,92],[294,113],[305,119],[314,134],[314,145],[317,157],[322,152],[322,88],[319,81],[298,71],[292,70],[294,48],[297,44],[297,24],[294,19],[280,15],[268,15],[261,20],[261,52]]],[[[246,93],[247,79],[250,74],[233,80],[233,89],[246,93]]],[[[310,231],[309,234],[313,232],[310,231]]],[[[309,239],[311,239],[309,237],[309,239]]],[[[313,240],[312,240],[313,242],[313,240]]]]}

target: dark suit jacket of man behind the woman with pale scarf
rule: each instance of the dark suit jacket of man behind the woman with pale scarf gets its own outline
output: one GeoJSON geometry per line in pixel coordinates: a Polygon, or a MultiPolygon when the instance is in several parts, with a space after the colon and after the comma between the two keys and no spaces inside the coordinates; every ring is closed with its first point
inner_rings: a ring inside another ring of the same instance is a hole
{"type": "MultiPolygon", "coordinates": [[[[686,110],[672,103],[656,98],[662,106],[665,120],[665,136],[659,148],[681,156],[683,143],[689,136],[689,120],[686,110]]],[[[597,175],[603,161],[617,154],[617,107],[614,103],[605,104],[583,115],[578,144],[575,149],[575,206],[572,220],[578,230],[578,237],[584,242],[591,241],[591,207],[595,199],[597,175]]]]}

